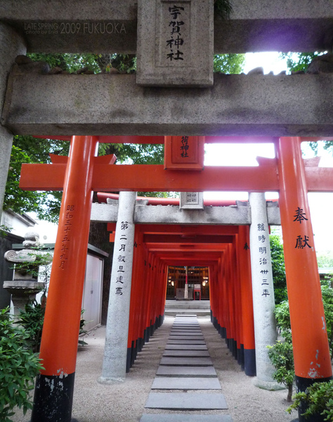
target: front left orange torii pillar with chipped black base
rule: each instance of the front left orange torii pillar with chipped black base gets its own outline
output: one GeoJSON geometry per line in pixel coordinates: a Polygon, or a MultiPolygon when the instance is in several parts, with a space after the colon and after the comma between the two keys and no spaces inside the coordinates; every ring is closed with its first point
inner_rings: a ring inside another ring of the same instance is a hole
{"type": "Polygon", "coordinates": [[[41,337],[32,422],[69,422],[91,217],[95,136],[73,136],[41,337]]]}

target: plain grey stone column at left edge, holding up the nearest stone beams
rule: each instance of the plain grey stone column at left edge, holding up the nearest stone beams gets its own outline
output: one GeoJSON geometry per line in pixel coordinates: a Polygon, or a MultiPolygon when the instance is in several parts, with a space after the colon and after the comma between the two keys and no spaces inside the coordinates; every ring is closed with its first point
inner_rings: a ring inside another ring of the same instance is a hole
{"type": "MultiPolygon", "coordinates": [[[[0,23],[0,111],[4,107],[7,79],[15,57],[25,54],[27,51],[22,37],[13,28],[0,23]]],[[[0,126],[0,216],[4,204],[9,160],[11,159],[11,147],[13,135],[6,128],[0,126]]]]}

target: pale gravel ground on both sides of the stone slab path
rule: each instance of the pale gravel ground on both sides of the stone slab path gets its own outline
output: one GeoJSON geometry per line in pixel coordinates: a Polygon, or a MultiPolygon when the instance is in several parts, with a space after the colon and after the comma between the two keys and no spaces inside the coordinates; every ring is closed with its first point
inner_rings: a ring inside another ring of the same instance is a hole
{"type": "MultiPolygon", "coordinates": [[[[228,409],[183,413],[228,414],[233,422],[294,421],[296,412],[289,415],[285,411],[287,390],[272,392],[256,388],[252,378],[244,375],[230,354],[225,340],[218,335],[209,316],[198,317],[198,320],[228,409]]],[[[173,316],[165,317],[164,324],[138,354],[126,381],[112,385],[97,382],[102,371],[105,327],[91,332],[84,339],[89,344],[80,347],[77,356],[72,417],[79,422],[138,422],[143,413],[171,413],[144,407],[173,322],[173,316]]],[[[23,416],[18,410],[13,416],[13,422],[28,421],[29,413],[23,416]]]]}

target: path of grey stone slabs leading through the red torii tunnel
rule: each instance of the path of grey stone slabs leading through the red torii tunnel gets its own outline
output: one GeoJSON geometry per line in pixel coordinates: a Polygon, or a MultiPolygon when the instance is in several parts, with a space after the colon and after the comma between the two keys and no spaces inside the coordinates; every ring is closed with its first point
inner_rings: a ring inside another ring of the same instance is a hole
{"type": "Polygon", "coordinates": [[[176,315],[145,408],[173,412],[143,414],[141,422],[233,422],[207,414],[228,407],[196,315],[176,315]]]}

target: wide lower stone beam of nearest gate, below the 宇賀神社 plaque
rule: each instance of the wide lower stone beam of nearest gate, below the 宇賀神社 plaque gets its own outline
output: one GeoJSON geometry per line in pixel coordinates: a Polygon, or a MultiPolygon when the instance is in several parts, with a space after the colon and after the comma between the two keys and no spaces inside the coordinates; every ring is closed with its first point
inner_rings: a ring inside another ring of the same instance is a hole
{"type": "Polygon", "coordinates": [[[214,87],[191,89],[138,87],[136,75],[12,74],[10,78],[1,123],[15,134],[331,136],[333,132],[332,74],[214,75],[214,87]]]}

